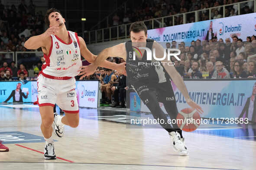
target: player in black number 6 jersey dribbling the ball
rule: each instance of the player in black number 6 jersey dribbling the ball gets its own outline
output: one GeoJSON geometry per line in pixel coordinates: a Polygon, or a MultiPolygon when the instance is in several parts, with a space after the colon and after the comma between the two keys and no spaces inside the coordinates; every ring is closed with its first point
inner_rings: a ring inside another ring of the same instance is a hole
{"type": "MultiPolygon", "coordinates": [[[[159,102],[162,102],[165,106],[165,110],[169,114],[171,119],[176,119],[178,115],[178,109],[175,101],[175,94],[172,89],[170,78],[179,88],[184,95],[188,105],[199,113],[203,110],[200,106],[191,100],[183,79],[176,71],[174,66],[169,66],[165,63],[169,63],[167,57],[164,60],[155,65],[138,65],[138,63],[148,63],[152,61],[146,60],[145,50],[141,50],[141,54],[135,57],[135,60],[131,54],[133,54],[133,47],[148,47],[149,49],[156,49],[156,57],[162,58],[165,50],[156,41],[147,39],[147,28],[143,22],[135,22],[130,26],[130,38],[131,41],[121,43],[116,46],[104,49],[94,60],[94,63],[89,66],[83,66],[80,70],[80,75],[88,76],[93,74],[97,66],[103,62],[107,57],[119,56],[126,60],[126,73],[129,84],[133,87],[143,103],[149,108],[155,119],[164,120],[164,123],[160,125],[169,132],[171,138],[171,145],[174,150],[180,155],[188,155],[188,149],[185,146],[182,131],[178,125],[167,123],[168,119],[165,113],[159,106],[159,102]]],[[[152,57],[153,58],[153,57],[152,57]]],[[[82,76],[82,77],[83,77],[82,76]]]]}

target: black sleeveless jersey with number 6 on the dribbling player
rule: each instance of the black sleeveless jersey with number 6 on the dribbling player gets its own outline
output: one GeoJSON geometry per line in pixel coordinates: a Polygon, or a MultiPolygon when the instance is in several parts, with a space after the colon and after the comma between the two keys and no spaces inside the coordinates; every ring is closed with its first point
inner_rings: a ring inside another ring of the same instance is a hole
{"type": "MultiPolygon", "coordinates": [[[[154,40],[147,39],[146,42],[147,42],[146,47],[149,48],[151,51],[153,51],[152,46],[153,46],[154,40]]],[[[135,57],[135,60],[133,60],[134,47],[132,46],[132,41],[127,41],[125,45],[126,45],[126,73],[127,73],[128,82],[130,84],[162,83],[170,79],[168,73],[165,71],[160,61],[155,60],[153,57],[152,57],[152,60],[147,60],[146,51],[143,54],[143,57],[141,60],[139,60],[137,57],[135,57]],[[147,63],[147,64],[139,65],[139,62],[147,63]]]]}

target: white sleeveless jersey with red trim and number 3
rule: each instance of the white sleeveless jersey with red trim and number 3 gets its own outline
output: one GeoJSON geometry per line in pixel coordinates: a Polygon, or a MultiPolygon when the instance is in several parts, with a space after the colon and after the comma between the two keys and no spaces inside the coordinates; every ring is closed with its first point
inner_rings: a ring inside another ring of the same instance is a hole
{"type": "Polygon", "coordinates": [[[68,31],[71,41],[66,44],[56,35],[51,35],[52,46],[45,57],[42,72],[54,77],[75,77],[82,66],[78,35],[68,31]]]}

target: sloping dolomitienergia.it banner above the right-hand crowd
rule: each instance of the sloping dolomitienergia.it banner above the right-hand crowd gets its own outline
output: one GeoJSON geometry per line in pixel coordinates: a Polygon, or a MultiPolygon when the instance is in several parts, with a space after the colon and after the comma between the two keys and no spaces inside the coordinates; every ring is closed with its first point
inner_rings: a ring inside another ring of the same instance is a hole
{"type": "MultiPolygon", "coordinates": [[[[217,34],[218,39],[222,38],[225,41],[225,39],[230,38],[231,35],[237,35],[237,37],[246,41],[246,36],[256,35],[255,23],[256,13],[250,13],[151,29],[148,30],[148,38],[161,42],[184,41],[188,43],[186,45],[190,45],[190,42],[193,40],[205,40],[207,31],[209,28],[212,28],[214,35],[217,34]]],[[[209,39],[211,39],[211,37],[209,39]]]]}

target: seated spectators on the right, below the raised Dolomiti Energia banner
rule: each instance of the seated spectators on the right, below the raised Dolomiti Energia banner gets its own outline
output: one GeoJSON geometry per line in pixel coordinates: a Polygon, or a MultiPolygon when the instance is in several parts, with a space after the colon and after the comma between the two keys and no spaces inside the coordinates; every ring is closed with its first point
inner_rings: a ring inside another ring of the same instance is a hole
{"type": "Polygon", "coordinates": [[[192,41],[185,47],[185,42],[178,44],[175,41],[166,43],[166,48],[178,48],[181,54],[178,61],[172,57],[172,62],[184,79],[237,79],[256,78],[256,36],[247,37],[247,41],[236,35],[227,38],[225,42],[213,37],[209,41],[192,41]],[[203,74],[204,73],[204,74],[203,74]]]}

